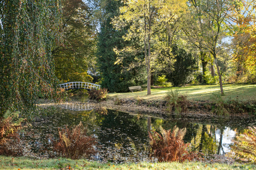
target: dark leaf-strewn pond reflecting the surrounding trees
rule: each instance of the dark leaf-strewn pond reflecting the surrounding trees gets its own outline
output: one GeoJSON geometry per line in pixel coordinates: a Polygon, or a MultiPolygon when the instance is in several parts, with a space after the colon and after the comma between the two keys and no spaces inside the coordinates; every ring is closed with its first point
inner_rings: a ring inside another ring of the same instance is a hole
{"type": "MultiPolygon", "coordinates": [[[[88,107],[89,108],[89,107],[88,107]]],[[[51,135],[58,138],[58,128],[73,127],[82,121],[88,134],[97,139],[97,155],[93,159],[102,162],[140,162],[148,158],[148,130],[159,128],[186,128],[185,142],[191,143],[190,151],[200,151],[206,158],[212,154],[230,152],[232,140],[247,126],[256,125],[253,118],[184,117],[170,115],[165,119],[124,113],[114,110],[69,110],[58,108],[51,118],[33,123],[21,136],[25,155],[49,158],[56,155],[50,145],[51,135]]]]}

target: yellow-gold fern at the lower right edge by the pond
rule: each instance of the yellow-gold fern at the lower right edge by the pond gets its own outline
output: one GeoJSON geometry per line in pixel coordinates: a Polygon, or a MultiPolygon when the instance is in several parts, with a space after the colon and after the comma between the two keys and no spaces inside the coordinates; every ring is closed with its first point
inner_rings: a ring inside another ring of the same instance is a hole
{"type": "Polygon", "coordinates": [[[249,127],[243,134],[236,136],[231,146],[231,151],[235,153],[236,158],[246,158],[251,162],[256,162],[256,127],[249,127]]]}

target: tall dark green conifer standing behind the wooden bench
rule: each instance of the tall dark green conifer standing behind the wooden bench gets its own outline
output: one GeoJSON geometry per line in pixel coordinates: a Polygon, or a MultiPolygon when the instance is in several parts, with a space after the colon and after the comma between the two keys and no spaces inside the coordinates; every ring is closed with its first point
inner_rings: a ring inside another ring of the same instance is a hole
{"type": "MultiPolygon", "coordinates": [[[[126,55],[122,63],[116,63],[117,55],[113,49],[122,49],[130,43],[122,39],[127,27],[116,30],[111,24],[111,18],[119,15],[119,7],[122,5],[121,1],[102,1],[101,27],[98,33],[97,65],[101,72],[101,85],[112,92],[127,91],[128,86],[141,84],[144,80],[143,69],[140,66],[125,69],[134,61],[134,55],[126,55]]],[[[141,58],[142,54],[138,53],[135,56],[141,58]]]]}

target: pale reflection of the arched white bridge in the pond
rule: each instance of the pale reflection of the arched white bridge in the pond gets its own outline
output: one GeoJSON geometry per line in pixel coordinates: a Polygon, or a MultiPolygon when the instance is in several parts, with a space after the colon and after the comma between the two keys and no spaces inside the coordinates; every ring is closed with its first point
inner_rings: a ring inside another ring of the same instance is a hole
{"type": "Polygon", "coordinates": [[[78,102],[60,103],[59,106],[72,111],[90,111],[93,109],[92,106],[89,105],[89,103],[78,102]]]}

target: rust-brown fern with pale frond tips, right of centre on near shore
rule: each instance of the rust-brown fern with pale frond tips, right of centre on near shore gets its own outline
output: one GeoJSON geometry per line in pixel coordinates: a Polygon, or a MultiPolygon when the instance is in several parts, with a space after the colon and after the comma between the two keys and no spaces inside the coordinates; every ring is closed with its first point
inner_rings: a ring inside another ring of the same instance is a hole
{"type": "Polygon", "coordinates": [[[183,138],[186,128],[180,129],[174,126],[172,132],[161,128],[161,135],[153,131],[149,132],[150,138],[150,158],[156,157],[159,162],[183,162],[197,158],[195,153],[188,153],[186,148],[190,145],[184,143],[183,138]]]}

